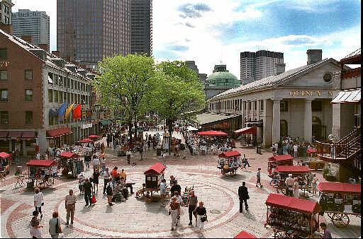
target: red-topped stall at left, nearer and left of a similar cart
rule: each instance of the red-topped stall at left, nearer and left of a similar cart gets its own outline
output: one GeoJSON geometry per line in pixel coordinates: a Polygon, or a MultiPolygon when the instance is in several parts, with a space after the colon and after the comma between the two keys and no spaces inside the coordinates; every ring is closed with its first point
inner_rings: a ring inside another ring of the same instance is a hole
{"type": "Polygon", "coordinates": [[[30,160],[28,166],[27,188],[46,187],[54,185],[52,167],[57,165],[54,160],[30,160]]]}

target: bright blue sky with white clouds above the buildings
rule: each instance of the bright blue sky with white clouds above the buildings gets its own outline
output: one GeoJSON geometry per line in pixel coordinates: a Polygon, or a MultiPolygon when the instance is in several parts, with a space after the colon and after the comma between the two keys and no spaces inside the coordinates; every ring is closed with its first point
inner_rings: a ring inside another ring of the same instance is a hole
{"type": "MultiPolygon", "coordinates": [[[[13,0],[50,16],[50,49],[57,48],[56,0],[13,0]]],[[[360,0],[153,0],[152,45],[157,62],[194,60],[199,73],[215,64],[240,78],[240,52],[284,52],[286,70],[306,64],[307,49],[337,60],[361,42],[360,0]]]]}

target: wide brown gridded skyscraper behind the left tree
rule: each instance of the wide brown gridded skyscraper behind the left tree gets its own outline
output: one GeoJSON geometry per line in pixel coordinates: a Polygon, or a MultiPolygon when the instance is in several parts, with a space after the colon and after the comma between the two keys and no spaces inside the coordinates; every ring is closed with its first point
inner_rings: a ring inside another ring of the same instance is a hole
{"type": "Polygon", "coordinates": [[[57,0],[57,50],[86,66],[131,51],[131,0],[57,0]]]}

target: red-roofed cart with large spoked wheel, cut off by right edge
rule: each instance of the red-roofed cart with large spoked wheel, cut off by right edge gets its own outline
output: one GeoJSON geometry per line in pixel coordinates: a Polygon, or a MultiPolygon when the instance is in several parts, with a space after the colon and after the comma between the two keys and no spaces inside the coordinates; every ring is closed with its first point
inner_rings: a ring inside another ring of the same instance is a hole
{"type": "Polygon", "coordinates": [[[361,216],[361,185],[342,182],[320,182],[319,204],[323,213],[338,228],[349,225],[348,215],[361,216]]]}

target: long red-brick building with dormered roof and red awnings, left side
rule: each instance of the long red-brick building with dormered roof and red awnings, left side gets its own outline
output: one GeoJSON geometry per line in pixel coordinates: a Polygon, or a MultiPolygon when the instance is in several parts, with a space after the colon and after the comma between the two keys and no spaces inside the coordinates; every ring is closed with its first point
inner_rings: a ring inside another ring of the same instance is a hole
{"type": "MultiPolygon", "coordinates": [[[[48,146],[74,144],[94,134],[94,74],[0,30],[0,150],[34,156],[48,146]],[[61,105],[82,104],[82,119],[59,117],[61,105]]],[[[18,154],[18,155],[19,155],[18,154]]]]}

